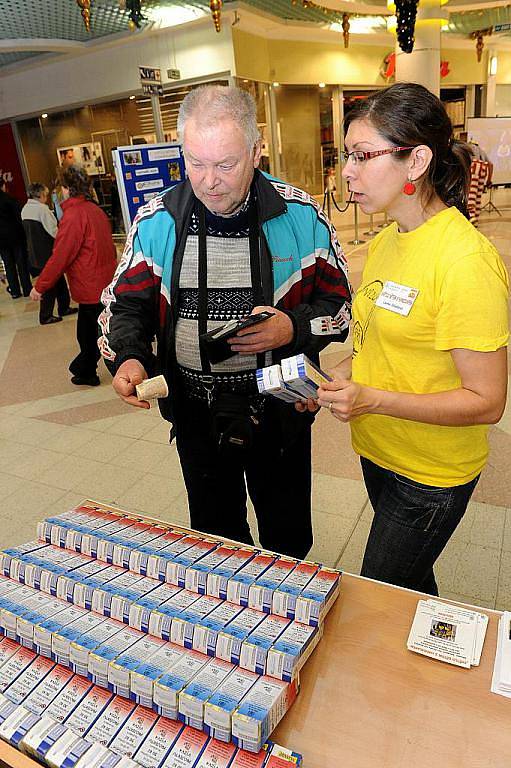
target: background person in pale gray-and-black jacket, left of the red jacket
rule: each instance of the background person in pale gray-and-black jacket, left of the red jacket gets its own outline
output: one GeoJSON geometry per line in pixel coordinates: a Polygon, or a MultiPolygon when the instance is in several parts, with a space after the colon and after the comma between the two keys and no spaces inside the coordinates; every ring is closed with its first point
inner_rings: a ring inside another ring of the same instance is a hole
{"type": "MultiPolygon", "coordinates": [[[[57,219],[47,206],[48,187],[35,182],[27,190],[28,200],[21,211],[23,229],[27,238],[28,260],[34,277],[38,277],[51,256],[53,244],[57,235],[57,219]]],[[[41,325],[58,323],[66,315],[78,312],[76,307],[70,307],[69,290],[66,278],[62,275],[49,291],[43,294],[39,307],[39,322],[41,325]],[[57,300],[58,316],[53,314],[57,300]]]]}

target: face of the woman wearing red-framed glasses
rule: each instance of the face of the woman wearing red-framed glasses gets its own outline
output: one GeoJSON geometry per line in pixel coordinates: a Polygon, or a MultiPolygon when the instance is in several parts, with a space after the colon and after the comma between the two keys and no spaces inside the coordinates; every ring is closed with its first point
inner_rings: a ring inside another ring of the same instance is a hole
{"type": "MultiPolygon", "coordinates": [[[[345,147],[346,152],[372,152],[392,144],[368,120],[355,120],[346,134],[345,147]]],[[[396,210],[406,204],[403,186],[408,181],[409,163],[397,158],[398,153],[393,153],[357,161],[350,155],[345,163],[342,175],[353,193],[353,201],[364,213],[385,211],[399,220],[396,210]]]]}

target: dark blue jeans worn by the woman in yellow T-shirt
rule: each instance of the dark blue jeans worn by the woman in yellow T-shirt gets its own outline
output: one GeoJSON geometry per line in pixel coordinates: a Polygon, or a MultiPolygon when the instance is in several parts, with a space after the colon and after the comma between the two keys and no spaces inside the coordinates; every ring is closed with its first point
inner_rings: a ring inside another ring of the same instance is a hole
{"type": "Polygon", "coordinates": [[[362,576],[438,595],[433,565],[465,514],[479,475],[438,488],[397,475],[361,457],[374,509],[362,576]]]}

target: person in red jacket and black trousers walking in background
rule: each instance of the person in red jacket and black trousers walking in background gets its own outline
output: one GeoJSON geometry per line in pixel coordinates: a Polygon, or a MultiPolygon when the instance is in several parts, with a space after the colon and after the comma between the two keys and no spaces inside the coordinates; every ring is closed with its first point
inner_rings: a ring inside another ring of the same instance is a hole
{"type": "Polygon", "coordinates": [[[76,336],[79,354],[69,370],[73,384],[99,385],[98,317],[103,289],[111,282],[117,260],[112,229],[107,216],[91,200],[91,182],[75,165],[61,172],[63,217],[52,255],[39,275],[30,298],[40,301],[43,293],[67,275],[71,296],[77,302],[76,336]]]}

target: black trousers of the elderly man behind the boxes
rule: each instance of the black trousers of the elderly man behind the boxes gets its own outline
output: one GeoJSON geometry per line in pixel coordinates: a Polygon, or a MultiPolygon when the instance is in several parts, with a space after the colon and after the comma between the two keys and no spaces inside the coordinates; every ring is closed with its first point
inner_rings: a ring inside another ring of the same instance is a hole
{"type": "Polygon", "coordinates": [[[205,403],[186,401],[175,426],[192,528],[252,544],[248,489],[261,545],[305,557],[312,546],[310,425],[281,449],[279,419],[267,409],[252,447],[228,456],[212,435],[205,403]]]}

